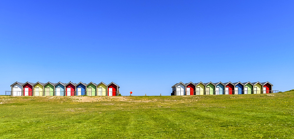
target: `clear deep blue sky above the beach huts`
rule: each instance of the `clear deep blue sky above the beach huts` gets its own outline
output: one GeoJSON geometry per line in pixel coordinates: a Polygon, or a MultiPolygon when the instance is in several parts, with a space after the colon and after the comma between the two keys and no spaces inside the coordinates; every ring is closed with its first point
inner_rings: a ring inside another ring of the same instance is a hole
{"type": "Polygon", "coordinates": [[[18,82],[294,89],[294,1],[1,1],[0,94],[18,82]]]}

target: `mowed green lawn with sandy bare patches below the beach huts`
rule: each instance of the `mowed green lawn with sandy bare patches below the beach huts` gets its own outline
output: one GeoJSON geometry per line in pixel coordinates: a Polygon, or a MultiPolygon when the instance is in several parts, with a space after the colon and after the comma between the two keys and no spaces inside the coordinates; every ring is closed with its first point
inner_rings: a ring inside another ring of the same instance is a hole
{"type": "Polygon", "coordinates": [[[294,91],[0,96],[0,138],[294,138],[294,91]]]}

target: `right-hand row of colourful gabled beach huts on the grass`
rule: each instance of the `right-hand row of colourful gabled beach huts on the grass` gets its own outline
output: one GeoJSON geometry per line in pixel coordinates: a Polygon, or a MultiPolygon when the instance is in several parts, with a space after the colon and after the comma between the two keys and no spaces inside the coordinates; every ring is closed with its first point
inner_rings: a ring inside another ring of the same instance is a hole
{"type": "Polygon", "coordinates": [[[230,94],[265,94],[275,93],[273,85],[269,82],[246,83],[176,83],[172,86],[171,95],[230,95],[230,94]]]}

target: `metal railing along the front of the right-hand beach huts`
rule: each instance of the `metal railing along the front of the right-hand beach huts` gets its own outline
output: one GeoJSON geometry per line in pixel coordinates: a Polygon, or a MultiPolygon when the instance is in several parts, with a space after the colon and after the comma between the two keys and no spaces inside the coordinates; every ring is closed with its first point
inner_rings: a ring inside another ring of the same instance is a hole
{"type": "Polygon", "coordinates": [[[268,93],[277,93],[279,90],[249,90],[249,91],[174,91],[174,95],[241,95],[241,94],[268,94],[268,93]]]}

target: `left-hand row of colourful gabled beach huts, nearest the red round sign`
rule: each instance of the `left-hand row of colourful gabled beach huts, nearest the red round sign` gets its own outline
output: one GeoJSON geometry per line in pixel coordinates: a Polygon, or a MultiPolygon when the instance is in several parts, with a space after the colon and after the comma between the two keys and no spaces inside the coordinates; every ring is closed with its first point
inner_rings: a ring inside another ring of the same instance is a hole
{"type": "Polygon", "coordinates": [[[119,86],[113,82],[105,83],[19,83],[15,82],[11,86],[12,96],[117,96],[119,86]]]}

